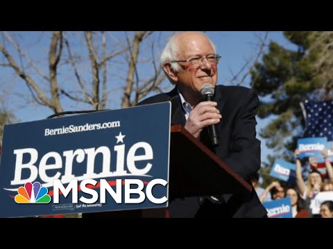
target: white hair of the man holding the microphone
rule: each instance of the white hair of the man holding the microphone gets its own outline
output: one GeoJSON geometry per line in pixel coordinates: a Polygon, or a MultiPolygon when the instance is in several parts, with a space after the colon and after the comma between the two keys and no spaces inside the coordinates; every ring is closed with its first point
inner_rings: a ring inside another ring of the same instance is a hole
{"type": "MultiPolygon", "coordinates": [[[[163,67],[164,64],[170,63],[171,70],[173,70],[173,72],[175,72],[175,73],[180,71],[180,65],[177,62],[172,62],[172,61],[178,60],[178,44],[176,42],[176,38],[181,33],[184,33],[184,31],[175,33],[170,37],[169,41],[167,42],[167,45],[165,45],[164,50],[162,51],[162,54],[161,54],[161,66],[163,67]]],[[[210,38],[208,38],[207,35],[205,35],[205,33],[201,33],[201,34],[204,35],[208,39],[208,41],[212,45],[214,53],[216,53],[215,45],[210,40],[210,38]]],[[[164,73],[166,73],[166,72],[164,71],[164,73]]],[[[167,75],[167,73],[166,73],[166,75],[167,75]]],[[[168,75],[167,75],[167,77],[169,78],[168,75]]],[[[172,82],[172,80],[170,78],[169,78],[169,80],[171,81],[171,83],[174,83],[174,82],[172,82]]]]}

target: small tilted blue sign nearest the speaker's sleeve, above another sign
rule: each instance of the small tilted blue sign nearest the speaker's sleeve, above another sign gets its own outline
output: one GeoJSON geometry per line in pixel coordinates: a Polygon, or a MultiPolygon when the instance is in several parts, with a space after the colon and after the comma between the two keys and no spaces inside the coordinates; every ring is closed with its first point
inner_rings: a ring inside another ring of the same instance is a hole
{"type": "Polygon", "coordinates": [[[292,183],[295,181],[296,165],[285,160],[276,159],[270,175],[282,181],[292,183]]]}

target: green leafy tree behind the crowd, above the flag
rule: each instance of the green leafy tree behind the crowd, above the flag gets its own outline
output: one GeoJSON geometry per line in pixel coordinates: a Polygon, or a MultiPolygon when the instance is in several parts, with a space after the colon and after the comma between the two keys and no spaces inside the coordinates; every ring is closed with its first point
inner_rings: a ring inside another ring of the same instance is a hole
{"type": "Polygon", "coordinates": [[[261,97],[259,118],[272,118],[260,135],[275,156],[291,158],[305,128],[300,102],[332,98],[333,33],[287,31],[284,36],[296,50],[271,42],[251,71],[251,86],[261,97]]]}

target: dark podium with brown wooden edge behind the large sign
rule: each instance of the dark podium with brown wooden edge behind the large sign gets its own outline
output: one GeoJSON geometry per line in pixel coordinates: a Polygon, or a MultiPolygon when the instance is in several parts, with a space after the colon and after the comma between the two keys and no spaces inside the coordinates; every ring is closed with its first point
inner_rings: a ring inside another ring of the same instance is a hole
{"type": "MultiPolygon", "coordinates": [[[[252,187],[181,125],[171,126],[169,203],[177,198],[236,194],[252,187]]],[[[85,213],[83,218],[167,218],[167,208],[85,213]]]]}

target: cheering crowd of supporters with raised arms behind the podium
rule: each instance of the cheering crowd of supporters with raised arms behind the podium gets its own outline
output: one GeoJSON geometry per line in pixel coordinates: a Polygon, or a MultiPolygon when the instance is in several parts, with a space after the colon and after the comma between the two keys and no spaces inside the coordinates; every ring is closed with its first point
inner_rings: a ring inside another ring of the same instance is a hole
{"type": "Polygon", "coordinates": [[[289,197],[294,218],[333,218],[333,167],[327,159],[327,150],[322,151],[325,158],[324,171],[318,170],[316,158],[308,158],[305,161],[298,158],[299,154],[300,152],[296,149],[296,181],[291,183],[272,181],[264,188],[259,184],[259,174],[253,176],[252,183],[260,201],[265,203],[289,197]],[[305,170],[307,174],[303,174],[303,167],[308,169],[305,170]],[[307,178],[304,175],[307,175],[307,178]],[[314,202],[321,192],[327,192],[328,199],[320,203],[320,210],[316,210],[314,202]]]}

